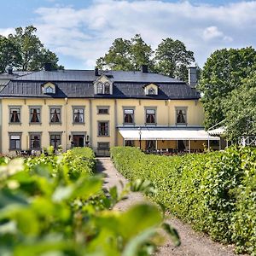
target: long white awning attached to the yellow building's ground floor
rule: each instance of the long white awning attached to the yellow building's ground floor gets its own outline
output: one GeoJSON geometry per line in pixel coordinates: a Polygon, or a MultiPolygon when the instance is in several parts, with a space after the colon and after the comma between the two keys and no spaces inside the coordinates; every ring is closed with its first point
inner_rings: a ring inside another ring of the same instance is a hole
{"type": "MultiPolygon", "coordinates": [[[[119,133],[125,140],[139,140],[140,131],[136,127],[119,128],[119,133]]],[[[208,135],[203,129],[192,128],[158,128],[158,127],[142,127],[141,140],[199,140],[199,141],[219,141],[219,137],[208,135]]]]}

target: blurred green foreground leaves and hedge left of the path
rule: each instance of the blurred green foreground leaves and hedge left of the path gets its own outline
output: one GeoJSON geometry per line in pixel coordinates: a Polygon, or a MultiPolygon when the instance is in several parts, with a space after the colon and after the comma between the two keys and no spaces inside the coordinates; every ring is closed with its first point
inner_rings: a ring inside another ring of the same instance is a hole
{"type": "MultiPolygon", "coordinates": [[[[88,169],[93,167],[93,156],[90,148],[74,148],[64,156],[49,150],[26,161],[0,159],[1,255],[154,252],[159,237],[156,230],[162,223],[158,207],[142,203],[125,212],[110,211],[125,195],[118,195],[116,188],[103,193],[102,177],[90,175],[93,170],[88,169]],[[75,158],[90,162],[84,169],[87,175],[72,175],[79,168],[68,168],[70,161],[77,164],[75,158]]],[[[165,228],[177,239],[171,227],[165,228]]]]}

